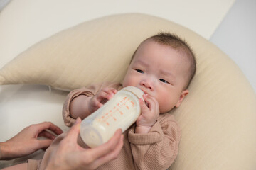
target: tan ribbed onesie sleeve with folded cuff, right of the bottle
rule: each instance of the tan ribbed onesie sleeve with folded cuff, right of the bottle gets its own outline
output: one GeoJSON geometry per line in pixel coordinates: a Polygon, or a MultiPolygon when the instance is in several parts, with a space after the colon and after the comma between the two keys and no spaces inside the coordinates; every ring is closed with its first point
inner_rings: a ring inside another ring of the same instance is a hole
{"type": "Polygon", "coordinates": [[[165,113],[146,134],[129,130],[136,169],[168,169],[178,154],[181,132],[173,115],[165,113]]]}

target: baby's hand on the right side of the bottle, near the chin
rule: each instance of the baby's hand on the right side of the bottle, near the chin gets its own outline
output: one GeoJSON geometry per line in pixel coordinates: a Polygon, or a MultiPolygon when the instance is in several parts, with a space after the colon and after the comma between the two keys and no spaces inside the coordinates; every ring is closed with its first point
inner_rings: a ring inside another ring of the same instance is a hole
{"type": "Polygon", "coordinates": [[[148,94],[144,94],[143,98],[145,103],[142,98],[139,98],[139,106],[142,108],[142,115],[139,115],[136,121],[137,127],[135,132],[137,133],[149,132],[159,117],[159,103],[156,101],[156,98],[148,94]]]}

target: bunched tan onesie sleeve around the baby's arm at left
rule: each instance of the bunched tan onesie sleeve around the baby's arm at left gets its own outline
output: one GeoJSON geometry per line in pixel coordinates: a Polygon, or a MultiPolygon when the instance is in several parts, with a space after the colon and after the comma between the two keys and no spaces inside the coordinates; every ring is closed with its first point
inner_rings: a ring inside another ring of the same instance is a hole
{"type": "Polygon", "coordinates": [[[95,96],[95,94],[98,91],[100,91],[105,87],[113,87],[118,90],[122,88],[122,85],[117,83],[103,83],[103,84],[95,84],[89,87],[82,87],[81,89],[75,89],[73,91],[70,91],[70,93],[68,94],[63,104],[63,120],[65,125],[70,127],[75,123],[75,118],[72,118],[72,116],[70,115],[70,103],[75,97],[79,95],[85,95],[88,97],[95,96]]]}

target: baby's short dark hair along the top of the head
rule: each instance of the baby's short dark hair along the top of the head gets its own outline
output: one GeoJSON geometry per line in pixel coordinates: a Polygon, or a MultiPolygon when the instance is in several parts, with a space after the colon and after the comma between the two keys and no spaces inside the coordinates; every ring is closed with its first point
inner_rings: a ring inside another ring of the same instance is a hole
{"type": "MultiPolygon", "coordinates": [[[[188,81],[185,86],[186,87],[185,89],[187,89],[189,84],[191,84],[191,81],[194,75],[196,74],[196,58],[193,50],[191,49],[190,45],[188,45],[186,40],[183,40],[182,38],[178,37],[178,35],[176,34],[162,33],[162,32],[156,35],[153,35],[150,38],[146,38],[146,40],[153,40],[154,42],[158,42],[161,45],[167,45],[173,48],[174,50],[177,50],[178,52],[184,53],[184,55],[186,55],[191,65],[191,67],[189,68],[188,81]]],[[[145,42],[146,40],[144,40],[143,42],[145,42]]],[[[140,45],[142,45],[142,43],[140,45]]],[[[139,47],[137,47],[137,49],[138,48],[139,47]]],[[[134,58],[134,55],[136,54],[136,52],[137,50],[135,50],[134,54],[132,55],[132,59],[134,58]]]]}

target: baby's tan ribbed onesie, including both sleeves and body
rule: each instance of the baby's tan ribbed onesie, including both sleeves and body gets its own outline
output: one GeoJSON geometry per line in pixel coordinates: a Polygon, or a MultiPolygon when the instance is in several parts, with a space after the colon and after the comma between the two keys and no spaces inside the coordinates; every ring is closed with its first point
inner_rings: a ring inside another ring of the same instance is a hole
{"type": "MultiPolygon", "coordinates": [[[[90,86],[71,91],[63,106],[63,119],[65,125],[71,126],[75,119],[70,117],[70,101],[78,95],[92,96],[106,86],[117,90],[122,89],[122,84],[101,84],[100,86],[90,86]]],[[[174,162],[178,154],[178,143],[181,137],[181,131],[174,119],[174,115],[162,113],[159,115],[156,123],[146,134],[134,133],[135,124],[124,132],[124,146],[117,159],[107,164],[103,164],[98,169],[168,169],[174,162]]],[[[50,147],[58,145],[60,140],[65,137],[66,132],[59,135],[50,147]]],[[[50,152],[46,152],[44,159],[50,157],[50,152]]],[[[28,162],[29,163],[29,162],[28,162]]],[[[40,169],[45,166],[40,165],[40,169]]]]}

